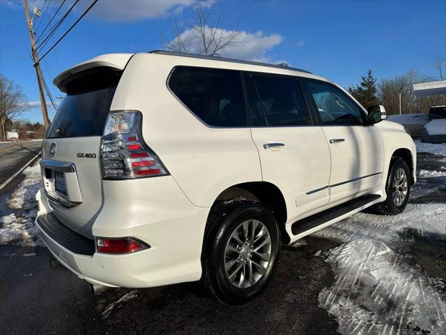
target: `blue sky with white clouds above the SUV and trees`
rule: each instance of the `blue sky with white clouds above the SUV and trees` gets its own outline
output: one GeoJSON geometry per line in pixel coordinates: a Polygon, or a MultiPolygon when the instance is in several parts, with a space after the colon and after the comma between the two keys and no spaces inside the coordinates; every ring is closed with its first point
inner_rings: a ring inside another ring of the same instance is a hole
{"type": "MultiPolygon", "coordinates": [[[[40,55],[82,15],[91,1],[77,3],[53,38],[39,50],[40,55]]],[[[61,3],[29,0],[31,12],[33,7],[43,9],[43,15],[34,20],[37,38],[61,3]]],[[[72,3],[66,0],[52,24],[72,3]]],[[[185,24],[192,20],[194,6],[190,0],[98,1],[41,63],[52,95],[63,96],[52,84],[54,77],[79,62],[99,54],[160,50],[161,36],[174,38],[175,22],[187,36],[190,31],[185,24]]],[[[446,0],[207,0],[203,6],[213,6],[213,13],[221,13],[220,28],[224,32],[238,31],[243,40],[236,47],[222,50],[222,56],[286,63],[328,77],[345,88],[357,84],[369,68],[378,80],[408,70],[435,77],[433,58],[446,55],[446,0]]],[[[46,34],[47,31],[43,37],[46,34]]],[[[0,74],[20,85],[29,101],[22,119],[42,122],[30,49],[22,0],[0,0],[0,74]]],[[[52,114],[54,108],[50,107],[50,117],[52,114]]]]}

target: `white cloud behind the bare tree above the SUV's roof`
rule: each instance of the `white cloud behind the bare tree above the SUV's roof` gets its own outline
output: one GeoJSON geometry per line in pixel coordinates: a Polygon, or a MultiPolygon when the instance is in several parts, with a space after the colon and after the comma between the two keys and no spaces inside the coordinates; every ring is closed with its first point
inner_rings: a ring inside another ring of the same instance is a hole
{"type": "MultiPolygon", "coordinates": [[[[206,27],[206,38],[210,39],[210,27],[206,27]]],[[[224,40],[233,33],[237,36],[234,39],[232,45],[224,47],[222,50],[217,51],[222,57],[229,57],[235,59],[244,59],[249,61],[270,61],[267,56],[267,52],[282,43],[283,37],[279,34],[263,34],[263,31],[256,31],[255,33],[249,33],[247,31],[230,31],[226,29],[216,29],[216,39],[222,36],[224,40]]],[[[203,44],[201,38],[194,28],[186,29],[180,34],[181,40],[186,45],[188,52],[192,54],[203,54],[203,44]]],[[[176,44],[175,40],[171,41],[172,44],[176,44]]]]}

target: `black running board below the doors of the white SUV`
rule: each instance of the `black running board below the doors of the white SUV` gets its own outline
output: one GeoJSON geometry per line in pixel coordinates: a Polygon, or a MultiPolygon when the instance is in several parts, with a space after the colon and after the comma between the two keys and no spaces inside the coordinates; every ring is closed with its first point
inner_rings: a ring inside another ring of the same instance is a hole
{"type": "Polygon", "coordinates": [[[328,221],[332,221],[348,212],[355,211],[355,209],[363,207],[370,202],[374,202],[378,198],[380,198],[380,195],[377,194],[364,195],[360,198],[345,202],[344,204],[339,204],[330,209],[326,209],[325,211],[321,211],[318,214],[302,218],[302,220],[296,221],[291,225],[291,232],[293,235],[302,234],[302,232],[316,228],[318,225],[323,225],[324,223],[328,223],[328,221]]]}

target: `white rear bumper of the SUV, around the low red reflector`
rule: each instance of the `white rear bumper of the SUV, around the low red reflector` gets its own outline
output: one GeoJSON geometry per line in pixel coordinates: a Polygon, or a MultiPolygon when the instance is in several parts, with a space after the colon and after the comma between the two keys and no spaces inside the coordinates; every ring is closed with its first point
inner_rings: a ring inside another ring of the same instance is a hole
{"type": "Polygon", "coordinates": [[[52,211],[45,194],[39,191],[36,226],[49,251],[77,276],[98,285],[149,288],[199,280],[209,209],[195,207],[171,177],[145,182],[147,187],[138,191],[132,181],[104,181],[105,202],[93,223],[92,235],[137,237],[151,248],[123,255],[73,252],[39,223],[40,216],[52,211]]]}

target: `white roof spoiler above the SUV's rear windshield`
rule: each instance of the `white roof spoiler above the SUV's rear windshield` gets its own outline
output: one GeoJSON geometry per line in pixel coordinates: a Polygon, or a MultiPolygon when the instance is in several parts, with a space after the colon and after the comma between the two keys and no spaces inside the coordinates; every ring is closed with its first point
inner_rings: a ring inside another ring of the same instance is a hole
{"type": "Polygon", "coordinates": [[[102,54],[68,68],[68,70],[55,77],[53,83],[63,93],[66,93],[68,83],[82,75],[85,71],[90,72],[95,68],[109,68],[110,70],[122,71],[132,56],[133,54],[102,54]]]}

